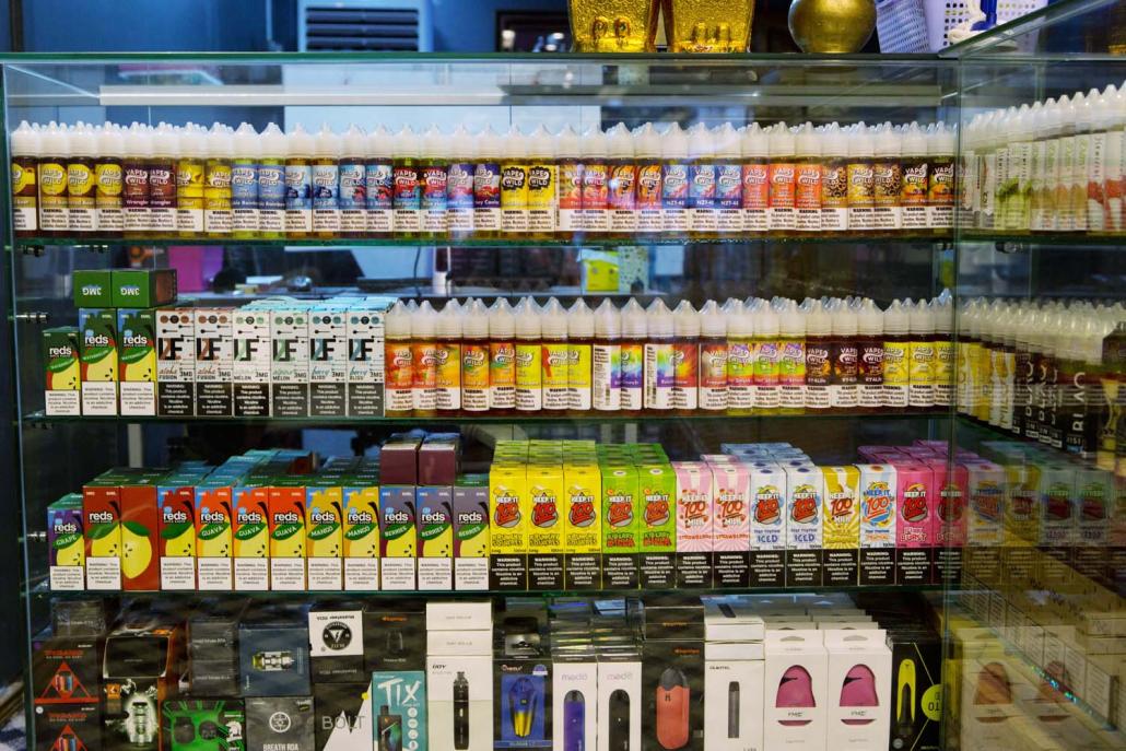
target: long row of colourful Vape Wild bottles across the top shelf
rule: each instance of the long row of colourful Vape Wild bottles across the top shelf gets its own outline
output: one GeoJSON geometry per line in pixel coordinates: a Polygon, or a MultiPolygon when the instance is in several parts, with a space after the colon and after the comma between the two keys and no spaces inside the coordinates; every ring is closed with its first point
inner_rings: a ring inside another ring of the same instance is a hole
{"type": "Polygon", "coordinates": [[[11,134],[20,236],[619,239],[945,234],[955,131],[863,123],[11,134]]]}

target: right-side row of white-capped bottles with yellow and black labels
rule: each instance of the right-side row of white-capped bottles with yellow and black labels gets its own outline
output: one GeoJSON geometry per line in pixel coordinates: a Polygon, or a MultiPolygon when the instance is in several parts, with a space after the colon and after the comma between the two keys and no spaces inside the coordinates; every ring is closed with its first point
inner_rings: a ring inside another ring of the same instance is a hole
{"type": "Polygon", "coordinates": [[[1126,306],[973,299],[958,327],[958,409],[1126,475],[1126,306]]]}

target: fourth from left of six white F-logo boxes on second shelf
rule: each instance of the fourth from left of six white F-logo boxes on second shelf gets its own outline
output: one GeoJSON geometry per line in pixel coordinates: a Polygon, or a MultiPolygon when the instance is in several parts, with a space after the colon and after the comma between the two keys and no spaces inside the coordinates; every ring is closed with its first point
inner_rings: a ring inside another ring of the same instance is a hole
{"type": "Polygon", "coordinates": [[[270,414],[309,417],[309,309],[277,306],[270,319],[270,414]]]}

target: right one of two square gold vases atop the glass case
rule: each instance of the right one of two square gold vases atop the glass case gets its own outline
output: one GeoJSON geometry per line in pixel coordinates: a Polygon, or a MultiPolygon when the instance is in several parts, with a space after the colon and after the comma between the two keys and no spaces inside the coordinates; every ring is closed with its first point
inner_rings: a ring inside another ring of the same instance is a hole
{"type": "Polygon", "coordinates": [[[670,52],[747,52],[754,0],[662,0],[670,52]]]}

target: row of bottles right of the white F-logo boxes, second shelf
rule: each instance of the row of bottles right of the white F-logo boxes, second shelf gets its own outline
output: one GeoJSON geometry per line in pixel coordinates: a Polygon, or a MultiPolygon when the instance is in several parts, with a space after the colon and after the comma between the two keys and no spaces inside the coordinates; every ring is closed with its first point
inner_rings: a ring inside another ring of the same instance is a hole
{"type": "Polygon", "coordinates": [[[388,415],[798,414],[949,409],[948,295],[706,302],[396,303],[388,415]]]}

